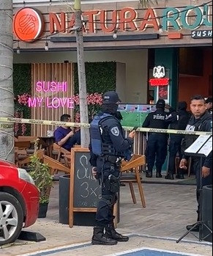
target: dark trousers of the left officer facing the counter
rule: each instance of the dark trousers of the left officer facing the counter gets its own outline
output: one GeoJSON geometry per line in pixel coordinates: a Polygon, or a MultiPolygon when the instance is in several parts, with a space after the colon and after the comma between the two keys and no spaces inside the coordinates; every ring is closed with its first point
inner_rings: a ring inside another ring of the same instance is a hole
{"type": "Polygon", "coordinates": [[[152,172],[155,159],[155,167],[157,171],[161,172],[167,155],[167,139],[168,136],[166,134],[149,134],[146,146],[148,172],[152,172]]]}

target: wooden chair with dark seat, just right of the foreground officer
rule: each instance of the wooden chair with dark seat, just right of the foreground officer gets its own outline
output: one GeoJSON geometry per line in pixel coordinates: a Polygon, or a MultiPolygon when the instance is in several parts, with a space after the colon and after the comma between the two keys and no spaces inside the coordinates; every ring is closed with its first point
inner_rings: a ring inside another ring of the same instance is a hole
{"type": "Polygon", "coordinates": [[[122,183],[128,183],[130,186],[130,193],[132,196],[132,201],[136,203],[135,191],[133,188],[133,183],[138,183],[139,194],[141,197],[141,204],[143,208],[146,208],[146,201],[143,194],[143,187],[141,184],[141,176],[139,173],[139,167],[146,164],[145,156],[133,155],[129,162],[122,161],[122,183]],[[133,169],[133,172],[131,171],[133,169]]]}

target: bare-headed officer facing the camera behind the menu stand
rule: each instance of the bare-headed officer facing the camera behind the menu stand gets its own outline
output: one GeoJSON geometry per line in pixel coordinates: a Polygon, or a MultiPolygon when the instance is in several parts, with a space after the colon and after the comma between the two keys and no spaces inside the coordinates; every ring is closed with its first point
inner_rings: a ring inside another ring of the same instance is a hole
{"type": "MultiPolygon", "coordinates": [[[[190,110],[192,112],[192,117],[187,124],[186,131],[212,131],[212,115],[206,111],[206,102],[205,99],[201,95],[194,95],[191,98],[190,102],[190,110]]],[[[194,135],[186,135],[184,136],[184,140],[182,143],[183,152],[193,144],[195,139],[198,136],[194,135]]],[[[187,169],[187,160],[189,156],[182,156],[182,160],[180,161],[179,167],[182,169],[187,169]]],[[[197,221],[201,221],[200,219],[200,211],[202,211],[200,207],[200,196],[201,196],[201,183],[202,186],[212,185],[212,153],[209,154],[206,158],[203,158],[202,168],[201,168],[201,158],[193,156],[193,169],[195,170],[195,177],[197,181],[197,191],[196,197],[198,201],[198,219],[197,221]],[[202,176],[202,180],[201,180],[202,176]]],[[[187,225],[187,230],[193,228],[194,232],[199,231],[199,227],[193,227],[193,225],[187,225]]]]}

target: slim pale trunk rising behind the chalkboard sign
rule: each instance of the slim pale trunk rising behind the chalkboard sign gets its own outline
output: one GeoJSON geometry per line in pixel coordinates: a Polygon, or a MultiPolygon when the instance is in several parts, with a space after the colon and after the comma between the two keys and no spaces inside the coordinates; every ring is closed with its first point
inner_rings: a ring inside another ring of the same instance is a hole
{"type": "MultiPolygon", "coordinates": [[[[86,73],[83,56],[83,24],[81,21],[81,0],[75,0],[75,26],[79,27],[76,32],[77,59],[78,59],[78,89],[79,89],[79,106],[80,120],[88,123],[88,106],[86,100],[86,73]]],[[[81,147],[89,146],[89,128],[81,127],[81,147]]]]}

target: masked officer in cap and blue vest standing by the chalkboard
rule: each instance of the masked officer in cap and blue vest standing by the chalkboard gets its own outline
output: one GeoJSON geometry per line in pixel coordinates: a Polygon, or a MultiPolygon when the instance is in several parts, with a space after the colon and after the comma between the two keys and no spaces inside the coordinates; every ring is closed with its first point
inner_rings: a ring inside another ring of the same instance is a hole
{"type": "Polygon", "coordinates": [[[92,244],[114,245],[118,241],[129,240],[127,236],[117,233],[113,226],[113,206],[120,187],[121,161],[124,151],[132,147],[135,136],[135,131],[132,131],[127,138],[124,137],[122,125],[115,116],[119,101],[116,92],[105,92],[101,111],[90,125],[92,173],[102,183],[92,244]]]}

